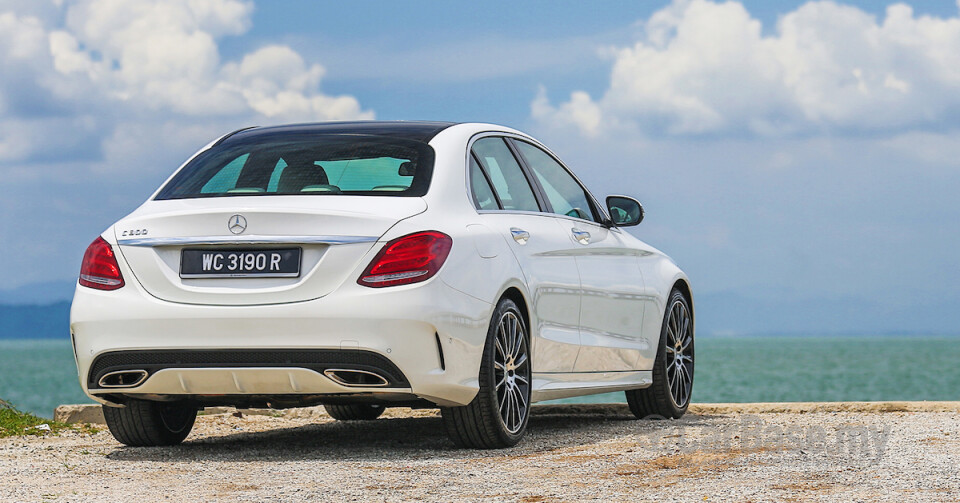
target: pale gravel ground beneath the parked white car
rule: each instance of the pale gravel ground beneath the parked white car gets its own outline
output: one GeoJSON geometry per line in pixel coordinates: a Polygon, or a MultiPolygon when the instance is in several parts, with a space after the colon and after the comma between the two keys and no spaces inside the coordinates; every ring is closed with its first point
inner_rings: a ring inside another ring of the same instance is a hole
{"type": "Polygon", "coordinates": [[[960,501],[960,413],[535,410],[516,448],[457,450],[433,411],[343,423],[201,416],[187,441],[0,439],[0,501],[960,501]]]}

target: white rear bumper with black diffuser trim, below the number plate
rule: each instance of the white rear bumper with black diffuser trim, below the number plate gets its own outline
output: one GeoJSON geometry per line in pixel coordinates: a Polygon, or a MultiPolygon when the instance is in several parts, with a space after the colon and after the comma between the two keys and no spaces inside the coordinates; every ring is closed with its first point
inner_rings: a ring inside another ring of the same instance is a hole
{"type": "Polygon", "coordinates": [[[78,377],[103,403],[118,395],[225,403],[300,395],[464,405],[479,389],[493,306],[437,279],[345,284],[320,299],[263,306],[177,304],[133,281],[112,292],[78,287],[70,323],[78,377]],[[132,368],[148,377],[133,387],[100,384],[105,373],[132,368]],[[372,371],[387,384],[345,385],[325,373],[337,368],[372,371]]]}

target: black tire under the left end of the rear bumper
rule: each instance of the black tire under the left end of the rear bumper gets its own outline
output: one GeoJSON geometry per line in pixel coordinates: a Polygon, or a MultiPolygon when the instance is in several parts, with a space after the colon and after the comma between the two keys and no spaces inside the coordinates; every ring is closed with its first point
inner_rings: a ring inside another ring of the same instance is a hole
{"type": "Polygon", "coordinates": [[[177,445],[197,420],[197,407],[186,402],[133,400],[126,407],[103,407],[113,438],[130,447],[177,445]]]}

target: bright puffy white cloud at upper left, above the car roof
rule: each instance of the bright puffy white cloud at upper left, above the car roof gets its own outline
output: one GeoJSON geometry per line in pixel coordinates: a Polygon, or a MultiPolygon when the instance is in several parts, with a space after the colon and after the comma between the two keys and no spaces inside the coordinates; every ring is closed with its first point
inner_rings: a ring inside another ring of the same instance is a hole
{"type": "Polygon", "coordinates": [[[320,92],[319,65],[286,46],[222,63],[217,38],[250,27],[238,0],[84,0],[50,34],[55,69],[82,74],[109,97],[188,116],[255,112],[276,120],[370,118],[351,96],[320,92]],[[237,71],[237,67],[241,71],[237,71]]]}

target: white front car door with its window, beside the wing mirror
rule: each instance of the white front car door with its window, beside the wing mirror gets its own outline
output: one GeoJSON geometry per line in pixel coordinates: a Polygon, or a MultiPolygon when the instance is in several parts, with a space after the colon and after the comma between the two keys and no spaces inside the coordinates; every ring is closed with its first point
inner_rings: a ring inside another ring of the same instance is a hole
{"type": "Polygon", "coordinates": [[[623,231],[607,228],[605,215],[574,177],[552,155],[522,140],[512,140],[522,162],[557,214],[566,236],[566,254],[580,273],[580,352],[575,372],[637,370],[650,342],[642,334],[644,279],[639,250],[623,231]]]}

